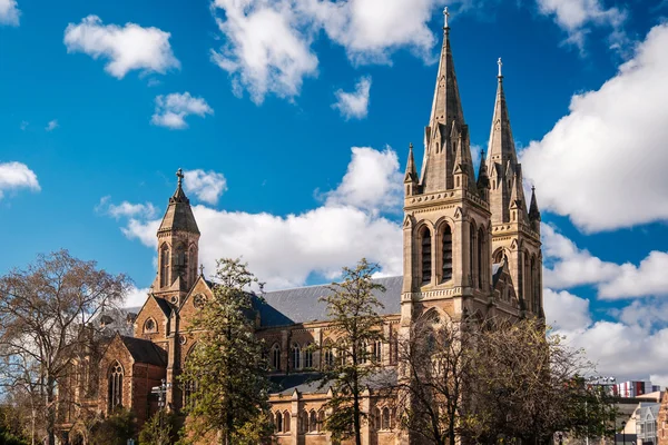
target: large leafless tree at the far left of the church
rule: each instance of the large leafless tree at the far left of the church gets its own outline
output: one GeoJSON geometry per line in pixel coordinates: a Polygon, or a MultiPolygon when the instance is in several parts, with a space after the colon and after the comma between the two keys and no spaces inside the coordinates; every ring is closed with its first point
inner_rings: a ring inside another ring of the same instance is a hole
{"type": "MultiPolygon", "coordinates": [[[[106,307],[122,300],[125,275],[110,275],[95,261],[67,250],[40,255],[26,269],[0,277],[0,385],[21,388],[35,425],[43,418],[49,445],[56,443],[59,382],[95,339],[90,323],[106,307]]],[[[66,392],[61,392],[66,394],[66,392]]]]}

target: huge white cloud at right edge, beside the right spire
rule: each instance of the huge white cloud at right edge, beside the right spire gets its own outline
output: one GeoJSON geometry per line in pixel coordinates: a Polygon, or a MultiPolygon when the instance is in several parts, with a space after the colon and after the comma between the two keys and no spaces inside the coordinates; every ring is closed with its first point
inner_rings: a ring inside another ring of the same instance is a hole
{"type": "Polygon", "coordinates": [[[570,113],[522,151],[541,206],[586,231],[668,219],[668,24],[599,90],[573,96],[570,113]]]}

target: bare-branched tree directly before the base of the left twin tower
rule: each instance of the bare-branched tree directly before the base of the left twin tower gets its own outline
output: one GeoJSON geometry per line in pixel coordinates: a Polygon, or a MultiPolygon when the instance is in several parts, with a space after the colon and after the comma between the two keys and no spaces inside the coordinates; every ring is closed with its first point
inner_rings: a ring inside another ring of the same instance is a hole
{"type": "Polygon", "coordinates": [[[477,327],[438,312],[411,326],[397,344],[396,384],[403,426],[435,445],[454,445],[471,421],[465,396],[472,389],[477,327]]]}

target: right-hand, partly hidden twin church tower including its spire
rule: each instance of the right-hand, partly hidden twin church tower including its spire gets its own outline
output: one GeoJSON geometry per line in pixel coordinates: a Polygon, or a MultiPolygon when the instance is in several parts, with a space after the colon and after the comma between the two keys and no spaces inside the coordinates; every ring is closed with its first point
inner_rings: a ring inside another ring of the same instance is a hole
{"type": "Polygon", "coordinates": [[[522,166],[518,162],[510,128],[501,67],[499,59],[497,99],[484,161],[491,187],[492,260],[508,268],[520,309],[524,314],[542,316],[540,211],[533,188],[531,206],[527,210],[522,166]]]}

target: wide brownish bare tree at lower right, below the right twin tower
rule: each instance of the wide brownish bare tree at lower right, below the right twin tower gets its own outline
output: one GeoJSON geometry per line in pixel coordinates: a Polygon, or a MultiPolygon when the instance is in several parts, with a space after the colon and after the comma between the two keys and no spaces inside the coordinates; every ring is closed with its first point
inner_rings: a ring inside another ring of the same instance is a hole
{"type": "Polygon", "coordinates": [[[543,320],[497,322],[477,344],[473,394],[480,422],[470,431],[479,442],[550,443],[610,434],[611,395],[588,386],[593,372],[584,352],[546,330],[543,320]]]}

